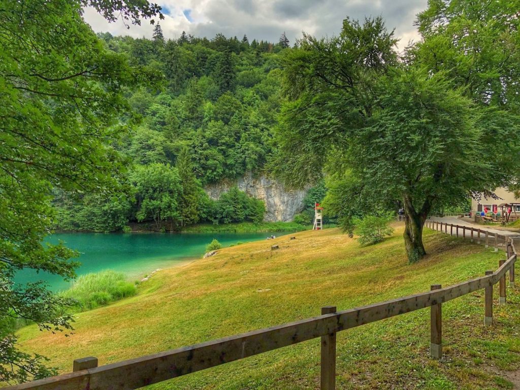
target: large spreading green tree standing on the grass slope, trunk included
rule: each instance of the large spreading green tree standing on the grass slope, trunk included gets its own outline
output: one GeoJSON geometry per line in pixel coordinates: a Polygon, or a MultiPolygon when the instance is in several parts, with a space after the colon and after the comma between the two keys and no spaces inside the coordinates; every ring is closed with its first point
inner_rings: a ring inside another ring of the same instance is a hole
{"type": "Polygon", "coordinates": [[[441,48],[419,45],[401,62],[395,43],[381,18],[346,19],[339,37],[304,37],[286,61],[279,169],[302,185],[325,166],[329,198],[343,199],[329,204],[349,231],[356,214],[404,207],[414,262],[426,253],[428,215],[511,183],[520,132],[515,109],[478,101],[448,69],[425,65],[422,51],[441,48]]]}

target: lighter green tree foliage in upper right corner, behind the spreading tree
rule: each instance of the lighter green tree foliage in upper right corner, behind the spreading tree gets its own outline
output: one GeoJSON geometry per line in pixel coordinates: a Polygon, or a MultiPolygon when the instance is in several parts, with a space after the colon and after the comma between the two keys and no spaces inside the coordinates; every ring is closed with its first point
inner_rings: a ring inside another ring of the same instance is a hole
{"type": "Polygon", "coordinates": [[[445,72],[484,112],[499,112],[495,121],[486,123],[485,139],[495,149],[487,163],[496,174],[478,189],[491,196],[497,187],[520,188],[520,180],[515,180],[520,176],[515,172],[520,132],[511,123],[520,104],[518,9],[516,1],[430,0],[417,20],[423,39],[408,52],[408,59],[429,72],[445,72]]]}

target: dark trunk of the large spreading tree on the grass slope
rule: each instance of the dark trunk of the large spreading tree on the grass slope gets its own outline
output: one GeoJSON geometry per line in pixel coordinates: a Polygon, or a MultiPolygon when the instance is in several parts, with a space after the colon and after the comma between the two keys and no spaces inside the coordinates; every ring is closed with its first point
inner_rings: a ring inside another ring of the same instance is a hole
{"type": "Polygon", "coordinates": [[[404,237],[408,262],[417,263],[426,254],[422,242],[422,231],[426,216],[430,210],[429,207],[425,207],[425,204],[421,213],[417,213],[409,196],[404,197],[403,203],[406,216],[404,237]]]}

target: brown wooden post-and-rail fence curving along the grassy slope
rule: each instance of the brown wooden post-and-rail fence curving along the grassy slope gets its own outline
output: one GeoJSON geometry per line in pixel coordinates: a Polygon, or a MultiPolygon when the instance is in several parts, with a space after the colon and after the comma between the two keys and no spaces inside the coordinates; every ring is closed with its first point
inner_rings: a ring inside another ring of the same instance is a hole
{"type": "MultiPolygon", "coordinates": [[[[433,221],[428,221],[427,226],[437,230],[439,230],[439,226],[440,229],[444,226],[445,231],[448,226],[450,230],[457,227],[457,231],[462,229],[463,236],[469,229],[463,226],[438,225],[433,221]]],[[[486,235],[486,238],[489,239],[489,236],[486,235]]],[[[498,248],[497,240],[499,239],[499,236],[495,236],[495,248],[498,248]]],[[[97,367],[98,361],[95,357],[77,359],[74,360],[72,373],[5,389],[131,390],[321,337],[320,388],[333,390],[336,376],[337,332],[430,307],[430,355],[438,359],[443,354],[442,304],[482,289],[485,290],[484,325],[490,326],[493,321],[493,285],[499,283],[499,304],[506,302],[505,279],[508,271],[510,283],[514,285],[515,243],[505,236],[504,243],[506,260],[499,262],[496,271],[486,271],[485,276],[450,287],[443,288],[439,284],[434,284],[431,286],[431,291],[428,292],[343,311],[336,311],[333,306],[322,307],[321,316],[318,317],[284,323],[101,367],[97,367]]],[[[520,240],[516,242],[516,245],[518,244],[520,244],[520,240]]]]}

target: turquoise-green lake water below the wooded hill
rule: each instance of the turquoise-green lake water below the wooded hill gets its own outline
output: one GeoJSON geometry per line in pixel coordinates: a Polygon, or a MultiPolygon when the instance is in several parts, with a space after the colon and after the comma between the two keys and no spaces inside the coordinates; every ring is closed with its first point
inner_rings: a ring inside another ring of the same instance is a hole
{"type": "MultiPolygon", "coordinates": [[[[282,236],[290,232],[256,233],[56,233],[48,242],[64,241],[68,248],[80,252],[76,258],[81,266],[77,275],[106,269],[124,272],[129,279],[140,280],[157,268],[167,268],[200,258],[205,246],[216,238],[223,247],[237,242],[265,240],[271,234],[282,236]]],[[[70,283],[46,272],[23,270],[15,281],[45,280],[53,291],[67,289],[70,283]]]]}

